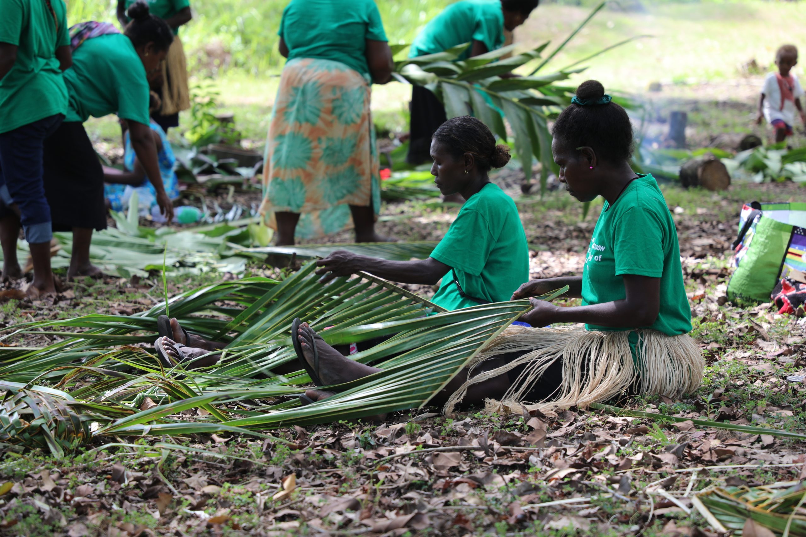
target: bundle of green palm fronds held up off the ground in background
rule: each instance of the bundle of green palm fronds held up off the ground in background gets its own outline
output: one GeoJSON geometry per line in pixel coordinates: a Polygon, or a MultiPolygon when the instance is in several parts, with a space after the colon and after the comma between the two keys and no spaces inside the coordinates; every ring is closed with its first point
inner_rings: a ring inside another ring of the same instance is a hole
{"type": "MultiPolygon", "coordinates": [[[[547,75],[538,75],[538,71],[563,50],[582,27],[605,7],[606,3],[606,1],[600,2],[588,15],[588,18],[545,58],[542,53],[548,47],[548,42],[542,43],[534,50],[504,60],[501,58],[512,53],[514,45],[480,56],[473,56],[467,60],[457,60],[470,46],[470,43],[465,43],[445,52],[399,60],[395,64],[394,75],[400,81],[422,85],[433,91],[445,105],[448,118],[471,114],[484,122],[502,140],[510,138],[504,123],[504,118],[506,118],[511,132],[514,134],[515,151],[521,160],[526,181],[528,182],[531,178],[533,158],[538,159],[542,165],[541,192],[544,192],[548,172],[550,170],[556,172],[554,159],[551,156],[551,135],[548,121],[571,103],[573,93],[572,88],[556,83],[567,80],[574,73],[584,71],[584,68],[571,69],[571,67],[629,43],[633,39],[646,37],[646,35],[638,35],[625,39],[584,60],[575,62],[568,68],[547,75]],[[501,78],[501,75],[536,60],[540,61],[529,76],[501,78]]],[[[405,45],[393,46],[395,53],[404,49],[405,45]]]]}

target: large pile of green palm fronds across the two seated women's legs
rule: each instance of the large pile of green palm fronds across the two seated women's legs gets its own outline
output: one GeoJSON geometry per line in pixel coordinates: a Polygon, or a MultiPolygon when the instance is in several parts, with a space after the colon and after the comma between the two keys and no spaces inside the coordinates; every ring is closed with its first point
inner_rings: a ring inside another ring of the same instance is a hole
{"type": "Polygon", "coordinates": [[[322,283],[314,269],[310,262],[283,281],[251,278],[194,289],[134,316],[98,314],[5,328],[0,345],[14,346],[0,354],[0,390],[7,391],[0,443],[47,445],[59,454],[89,437],[88,421],[98,423],[94,436],[185,436],[419,407],[529,308],[519,301],[444,312],[371,275],[322,283]],[[225,342],[219,364],[204,370],[161,365],[150,345],[156,318],[164,313],[191,333],[225,342]],[[297,316],[331,345],[393,336],[353,356],[383,371],[300,407],[297,395],[308,375],[274,372],[296,360],[289,328],[297,316]],[[51,343],[25,346],[34,337],[51,343]],[[145,398],[156,407],[143,406],[145,398]],[[201,409],[198,415],[180,415],[193,408],[201,409]]]}

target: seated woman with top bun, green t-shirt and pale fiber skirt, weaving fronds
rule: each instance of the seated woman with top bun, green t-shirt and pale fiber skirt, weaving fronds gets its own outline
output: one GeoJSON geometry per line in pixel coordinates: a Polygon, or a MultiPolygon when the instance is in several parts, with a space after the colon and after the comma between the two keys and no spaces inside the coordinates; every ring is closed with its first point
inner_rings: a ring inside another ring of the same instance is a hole
{"type": "MultiPolygon", "coordinates": [[[[621,106],[596,81],[577,89],[573,104],[555,123],[552,152],[559,180],[578,200],[603,196],[583,275],[534,280],[513,299],[569,285],[583,305],[561,308],[530,298],[521,317],[534,328],[506,328],[442,390],[434,403],[450,412],[456,403],[487,399],[526,408],[586,406],[625,391],[677,397],[700,383],[704,359],[688,336],[691,310],[674,222],[652,176],[629,167],[633,131],[621,106]],[[584,328],[539,328],[554,322],[584,328]]],[[[316,389],[306,399],[322,400],[334,386],[379,371],[344,357],[307,324],[295,320],[297,355],[316,389]]],[[[209,353],[166,341],[173,358],[209,353]]]]}

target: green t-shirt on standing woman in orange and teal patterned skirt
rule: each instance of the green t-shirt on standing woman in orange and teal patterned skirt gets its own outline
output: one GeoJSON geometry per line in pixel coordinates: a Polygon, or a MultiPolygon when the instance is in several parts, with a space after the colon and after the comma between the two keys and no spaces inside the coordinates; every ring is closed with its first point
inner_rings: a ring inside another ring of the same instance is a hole
{"type": "Polygon", "coordinates": [[[387,40],[372,0],[291,0],[277,35],[289,48],[289,60],[339,61],[362,75],[369,75],[367,39],[387,40]]]}

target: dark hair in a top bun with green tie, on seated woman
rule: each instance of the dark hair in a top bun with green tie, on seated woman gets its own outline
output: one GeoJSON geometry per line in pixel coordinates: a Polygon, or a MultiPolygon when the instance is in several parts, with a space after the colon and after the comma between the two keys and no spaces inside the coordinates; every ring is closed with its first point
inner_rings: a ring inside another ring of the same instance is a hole
{"type": "MultiPolygon", "coordinates": [[[[599,101],[605,86],[585,81],[576,89],[581,101],[599,101]]],[[[596,156],[611,163],[622,163],[633,155],[633,125],[625,109],[610,101],[604,105],[572,103],[554,124],[551,135],[567,147],[592,147],[596,156]]]]}

